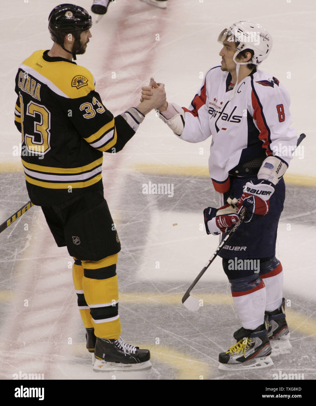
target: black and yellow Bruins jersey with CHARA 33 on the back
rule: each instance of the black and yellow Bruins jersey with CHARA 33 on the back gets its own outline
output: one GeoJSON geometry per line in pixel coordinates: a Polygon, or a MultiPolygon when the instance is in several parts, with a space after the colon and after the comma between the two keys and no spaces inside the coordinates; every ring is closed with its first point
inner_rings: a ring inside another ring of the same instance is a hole
{"type": "Polygon", "coordinates": [[[26,186],[42,206],[103,189],[103,151],[120,151],[135,134],[103,106],[88,69],[47,52],[24,60],[15,78],[26,186]]]}

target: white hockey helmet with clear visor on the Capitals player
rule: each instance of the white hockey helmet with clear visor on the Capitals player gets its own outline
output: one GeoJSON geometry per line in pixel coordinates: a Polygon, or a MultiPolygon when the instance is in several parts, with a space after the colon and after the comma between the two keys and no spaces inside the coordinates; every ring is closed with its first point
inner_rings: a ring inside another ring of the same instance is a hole
{"type": "Polygon", "coordinates": [[[252,61],[240,62],[240,65],[248,65],[253,63],[259,65],[272,49],[272,38],[267,30],[265,30],[260,24],[252,23],[250,21],[239,21],[230,28],[225,28],[220,34],[217,41],[223,44],[223,41],[236,43],[236,53],[234,54],[234,63],[239,52],[245,49],[251,49],[254,51],[252,61]]]}

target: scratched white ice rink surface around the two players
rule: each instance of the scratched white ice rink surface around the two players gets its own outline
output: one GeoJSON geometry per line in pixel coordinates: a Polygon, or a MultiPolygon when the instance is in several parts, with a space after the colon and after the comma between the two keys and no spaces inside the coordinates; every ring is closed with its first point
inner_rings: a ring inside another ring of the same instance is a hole
{"type": "MultiPolygon", "coordinates": [[[[90,3],[80,5],[90,10],[90,3]]],[[[201,72],[219,64],[216,40],[223,28],[249,19],[270,31],[273,51],[261,69],[286,86],[293,126],[307,134],[303,159],[296,157],[288,169],[292,180],[288,177],[277,240],[284,296],[290,300],[292,351],[275,358],[269,371],[218,371],[218,353],[232,345],[232,333],[240,327],[220,259],[192,292],[204,306],[190,313],[181,304],[218,244],[200,230],[204,207],[217,205],[206,169],[210,140],[181,142],[151,112],[124,150],[105,154],[103,164],[105,198],[122,242],[117,266],[122,337],[149,348],[153,363],[149,372],[116,373],[116,379],[271,380],[280,370],[315,379],[314,2],[255,0],[247,8],[239,0],[168,3],[160,10],[116,0],[93,25],[87,52],[77,63],[94,74],[97,91],[114,115],[138,104],[140,88],[151,76],[166,84],[168,100],[187,106],[201,72]],[[301,184],[293,180],[297,174],[301,184]],[[142,194],[149,181],[173,184],[173,197],[142,194]]],[[[20,142],[13,124],[15,73],[32,52],[50,48],[47,17],[56,5],[12,0],[2,13],[1,222],[29,200],[20,158],[12,154],[20,142]]],[[[22,371],[45,374],[45,379],[113,379],[114,374],[92,371],[71,258],[65,248],[57,248],[41,209],[32,207],[1,233],[0,243],[0,378],[12,379],[22,371]]]]}

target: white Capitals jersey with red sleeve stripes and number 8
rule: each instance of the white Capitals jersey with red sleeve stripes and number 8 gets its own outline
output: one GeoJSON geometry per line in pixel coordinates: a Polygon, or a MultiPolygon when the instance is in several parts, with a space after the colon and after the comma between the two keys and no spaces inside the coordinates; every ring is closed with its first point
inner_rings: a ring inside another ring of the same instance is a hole
{"type": "Polygon", "coordinates": [[[234,85],[220,66],[210,69],[203,85],[185,110],[179,138],[191,143],[212,135],[209,173],[217,192],[230,187],[228,172],[254,158],[276,155],[288,165],[297,143],[290,128],[290,97],[279,81],[257,70],[234,85]]]}

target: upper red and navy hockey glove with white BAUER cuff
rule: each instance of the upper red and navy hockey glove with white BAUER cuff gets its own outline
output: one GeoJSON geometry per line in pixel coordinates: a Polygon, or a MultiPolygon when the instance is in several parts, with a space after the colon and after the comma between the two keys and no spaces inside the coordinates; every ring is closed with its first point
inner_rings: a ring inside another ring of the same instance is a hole
{"type": "Polygon", "coordinates": [[[245,223],[249,223],[257,220],[259,216],[269,213],[269,199],[273,192],[273,183],[259,179],[255,184],[252,181],[245,184],[243,194],[236,203],[229,200],[228,202],[236,204],[238,214],[241,214],[243,207],[246,207],[247,216],[245,223]]]}

